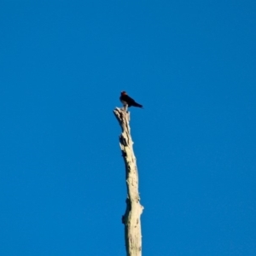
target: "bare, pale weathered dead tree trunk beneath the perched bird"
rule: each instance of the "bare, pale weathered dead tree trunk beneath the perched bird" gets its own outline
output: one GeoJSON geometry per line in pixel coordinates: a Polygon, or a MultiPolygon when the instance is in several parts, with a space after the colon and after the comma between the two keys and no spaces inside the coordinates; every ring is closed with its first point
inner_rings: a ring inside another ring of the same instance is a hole
{"type": "Polygon", "coordinates": [[[125,160],[125,174],[127,185],[127,198],[125,215],[122,217],[122,223],[125,224],[125,247],[127,256],[142,255],[142,231],[141,214],[143,206],[140,204],[138,193],[138,173],[136,158],[133,153],[131,129],[129,125],[130,113],[120,108],[113,110],[115,117],[119,121],[122,133],[119,136],[119,144],[122,155],[125,160]]]}

